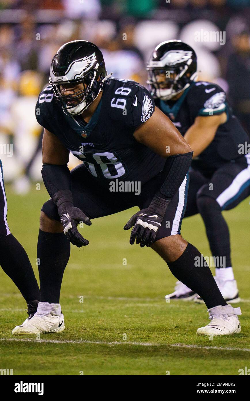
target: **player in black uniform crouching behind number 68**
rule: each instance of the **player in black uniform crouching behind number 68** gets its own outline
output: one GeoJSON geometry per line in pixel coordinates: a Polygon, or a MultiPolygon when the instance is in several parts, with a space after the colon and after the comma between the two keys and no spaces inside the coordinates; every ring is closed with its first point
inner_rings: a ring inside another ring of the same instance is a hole
{"type": "MultiPolygon", "coordinates": [[[[216,266],[216,282],[227,302],[240,301],[223,210],[250,195],[249,138],[218,85],[196,82],[196,53],[181,41],[160,43],[147,64],[155,103],[194,150],[185,217],[200,213],[216,266]]],[[[167,298],[202,302],[177,282],[167,298]]]]}

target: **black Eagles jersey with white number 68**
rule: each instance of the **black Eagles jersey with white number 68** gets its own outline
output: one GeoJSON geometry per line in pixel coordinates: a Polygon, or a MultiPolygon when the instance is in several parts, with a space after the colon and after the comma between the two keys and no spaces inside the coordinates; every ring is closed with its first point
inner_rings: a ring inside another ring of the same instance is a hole
{"type": "Polygon", "coordinates": [[[63,112],[51,85],[38,97],[36,119],[83,161],[101,185],[114,179],[143,185],[165,164],[164,158],[133,138],[135,129],[151,117],[154,109],[154,100],[145,87],[131,80],[109,78],[88,124],[63,112]]]}

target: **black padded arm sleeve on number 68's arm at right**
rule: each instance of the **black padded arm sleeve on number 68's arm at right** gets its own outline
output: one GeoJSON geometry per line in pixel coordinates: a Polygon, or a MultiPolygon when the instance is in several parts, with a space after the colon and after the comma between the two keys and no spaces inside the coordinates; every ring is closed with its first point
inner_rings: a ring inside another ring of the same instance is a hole
{"type": "Polygon", "coordinates": [[[193,152],[167,158],[162,170],[162,185],[153,197],[149,208],[163,217],[167,206],[181,186],[192,162],[193,152]]]}

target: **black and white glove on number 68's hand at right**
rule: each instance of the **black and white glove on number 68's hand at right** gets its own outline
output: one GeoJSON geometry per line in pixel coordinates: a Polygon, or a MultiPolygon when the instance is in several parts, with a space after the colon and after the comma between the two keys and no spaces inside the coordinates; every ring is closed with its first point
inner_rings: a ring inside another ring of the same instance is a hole
{"type": "Polygon", "coordinates": [[[135,213],[123,227],[124,230],[129,230],[134,226],[129,243],[133,244],[136,238],[136,243],[140,244],[142,248],[150,247],[155,240],[159,227],[161,227],[162,220],[163,217],[149,213],[147,209],[135,213]]]}

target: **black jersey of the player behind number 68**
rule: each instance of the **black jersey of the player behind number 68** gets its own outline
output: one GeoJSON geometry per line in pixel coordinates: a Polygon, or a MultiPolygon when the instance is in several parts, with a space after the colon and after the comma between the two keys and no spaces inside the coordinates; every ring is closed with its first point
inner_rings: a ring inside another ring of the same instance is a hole
{"type": "Polygon", "coordinates": [[[197,116],[209,116],[226,112],[227,121],[218,127],[212,143],[192,161],[192,167],[206,175],[214,172],[225,161],[242,157],[239,144],[249,143],[249,138],[226,100],[226,94],[218,85],[210,82],[193,82],[181,97],[173,101],[155,100],[184,136],[197,116]]]}

